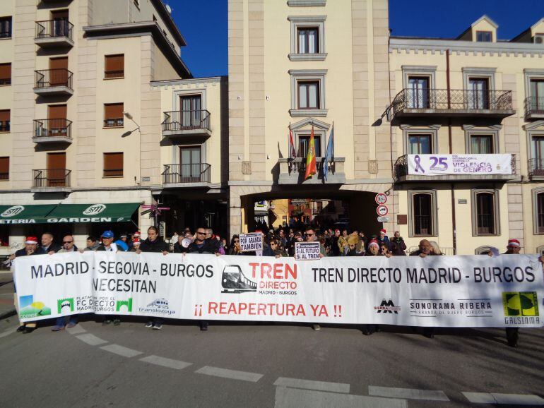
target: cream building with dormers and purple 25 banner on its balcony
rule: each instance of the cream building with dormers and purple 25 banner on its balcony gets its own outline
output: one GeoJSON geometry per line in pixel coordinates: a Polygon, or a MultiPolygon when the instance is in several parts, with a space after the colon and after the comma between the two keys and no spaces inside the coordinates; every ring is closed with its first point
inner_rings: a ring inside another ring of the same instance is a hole
{"type": "Polygon", "coordinates": [[[455,39],[391,37],[394,228],[411,246],[473,254],[515,238],[543,251],[543,33],[544,19],[497,40],[482,16],[455,39]]]}

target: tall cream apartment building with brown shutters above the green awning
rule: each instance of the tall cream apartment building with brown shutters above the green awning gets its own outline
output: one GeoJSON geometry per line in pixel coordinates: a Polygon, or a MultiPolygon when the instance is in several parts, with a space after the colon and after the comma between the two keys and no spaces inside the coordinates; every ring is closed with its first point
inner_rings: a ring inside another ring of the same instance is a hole
{"type": "Polygon", "coordinates": [[[160,0],[0,2],[0,239],[153,224],[160,91],[192,78],[160,0]]]}

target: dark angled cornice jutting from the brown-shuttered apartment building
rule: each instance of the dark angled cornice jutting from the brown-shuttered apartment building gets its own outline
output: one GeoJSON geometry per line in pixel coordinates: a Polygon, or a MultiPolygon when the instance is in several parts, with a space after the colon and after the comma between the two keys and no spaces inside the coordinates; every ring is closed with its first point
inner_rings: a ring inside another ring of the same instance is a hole
{"type": "Polygon", "coordinates": [[[181,56],[177,54],[170,42],[165,37],[164,32],[159,25],[153,21],[143,21],[138,23],[121,23],[105,25],[88,25],[83,27],[83,31],[88,38],[93,40],[102,40],[110,38],[138,37],[142,35],[152,35],[155,43],[158,44],[162,52],[165,53],[168,61],[174,65],[179,76],[192,78],[193,75],[187,65],[185,65],[181,56]]]}

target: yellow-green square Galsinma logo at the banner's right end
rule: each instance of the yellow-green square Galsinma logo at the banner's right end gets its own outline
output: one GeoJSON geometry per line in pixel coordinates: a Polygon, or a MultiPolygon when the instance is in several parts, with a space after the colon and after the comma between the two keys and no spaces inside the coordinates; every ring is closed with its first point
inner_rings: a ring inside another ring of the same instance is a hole
{"type": "Polygon", "coordinates": [[[504,323],[520,325],[540,323],[536,292],[502,292],[502,306],[504,323]]]}

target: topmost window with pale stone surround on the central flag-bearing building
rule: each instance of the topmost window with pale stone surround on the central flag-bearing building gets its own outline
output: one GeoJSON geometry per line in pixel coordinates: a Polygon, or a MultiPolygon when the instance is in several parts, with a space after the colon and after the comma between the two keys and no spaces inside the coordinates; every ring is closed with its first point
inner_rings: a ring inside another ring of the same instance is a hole
{"type": "Polygon", "coordinates": [[[323,61],[326,16],[289,16],[291,25],[291,61],[323,61]]]}

